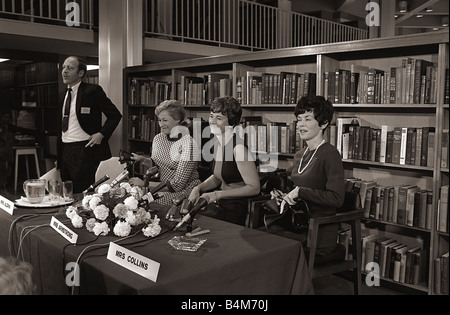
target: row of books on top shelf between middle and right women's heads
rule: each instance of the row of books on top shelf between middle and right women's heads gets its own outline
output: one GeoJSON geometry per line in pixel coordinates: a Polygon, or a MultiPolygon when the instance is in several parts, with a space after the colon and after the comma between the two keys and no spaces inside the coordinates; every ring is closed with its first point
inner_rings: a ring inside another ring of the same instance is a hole
{"type": "Polygon", "coordinates": [[[308,94],[316,93],[316,73],[282,71],[279,74],[247,71],[237,79],[241,104],[296,104],[308,94]],[[240,96],[242,94],[242,96],[240,96]]]}

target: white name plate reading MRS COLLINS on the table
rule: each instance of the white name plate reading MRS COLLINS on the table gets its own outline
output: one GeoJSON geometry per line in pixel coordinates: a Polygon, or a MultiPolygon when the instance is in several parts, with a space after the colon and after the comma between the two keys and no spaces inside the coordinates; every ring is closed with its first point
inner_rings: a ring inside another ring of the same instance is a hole
{"type": "Polygon", "coordinates": [[[160,263],[139,255],[116,243],[109,243],[107,258],[144,278],[156,282],[160,263]]]}

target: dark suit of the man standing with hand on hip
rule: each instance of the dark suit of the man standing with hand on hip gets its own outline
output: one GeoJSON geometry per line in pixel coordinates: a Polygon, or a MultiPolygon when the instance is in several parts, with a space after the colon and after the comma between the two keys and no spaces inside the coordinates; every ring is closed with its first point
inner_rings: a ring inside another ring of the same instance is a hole
{"type": "MultiPolygon", "coordinates": [[[[60,94],[59,104],[63,104],[64,97],[66,93],[60,94]]],[[[62,143],[62,131],[61,131],[61,121],[62,121],[62,108],[59,108],[59,113],[57,117],[58,126],[58,169],[61,169],[64,165],[63,160],[63,148],[62,143]]],[[[89,135],[93,135],[100,132],[104,139],[101,144],[94,145],[92,148],[88,148],[89,156],[93,159],[93,163],[98,165],[100,161],[107,160],[111,157],[111,149],[109,147],[109,139],[122,119],[122,114],[119,112],[117,107],[111,102],[111,100],[106,96],[102,87],[97,84],[88,84],[81,82],[76,99],[76,114],[78,122],[81,128],[89,135]],[[102,125],[102,113],[106,116],[106,121],[102,125]]],[[[63,172],[61,172],[63,176],[63,172]]],[[[90,174],[89,181],[92,181],[95,177],[94,174],[90,174]]],[[[65,180],[64,178],[62,178],[65,180]]],[[[89,186],[90,183],[84,183],[83,186],[89,186]]],[[[75,189],[78,186],[74,181],[74,192],[79,189],[75,189]]],[[[86,187],[87,187],[86,186],[86,187]]]]}

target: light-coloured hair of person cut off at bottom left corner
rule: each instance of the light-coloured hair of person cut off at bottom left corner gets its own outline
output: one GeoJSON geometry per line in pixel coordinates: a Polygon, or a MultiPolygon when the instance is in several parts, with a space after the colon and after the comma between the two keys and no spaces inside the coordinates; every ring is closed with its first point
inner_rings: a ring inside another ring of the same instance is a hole
{"type": "Polygon", "coordinates": [[[0,295],[31,295],[33,267],[14,257],[0,257],[0,295]]]}

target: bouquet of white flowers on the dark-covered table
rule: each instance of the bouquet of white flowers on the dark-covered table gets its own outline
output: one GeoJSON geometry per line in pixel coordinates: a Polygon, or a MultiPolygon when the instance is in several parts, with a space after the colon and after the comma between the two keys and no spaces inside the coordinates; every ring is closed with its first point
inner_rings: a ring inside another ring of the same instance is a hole
{"type": "Polygon", "coordinates": [[[138,186],[121,183],[118,187],[100,185],[96,193],[86,195],[80,207],[69,206],[66,216],[74,228],[83,227],[95,235],[108,235],[111,231],[119,237],[130,235],[133,227],[142,227],[147,237],[155,237],[161,232],[160,219],[152,219],[146,206],[153,201],[151,193],[144,194],[138,186]]]}

